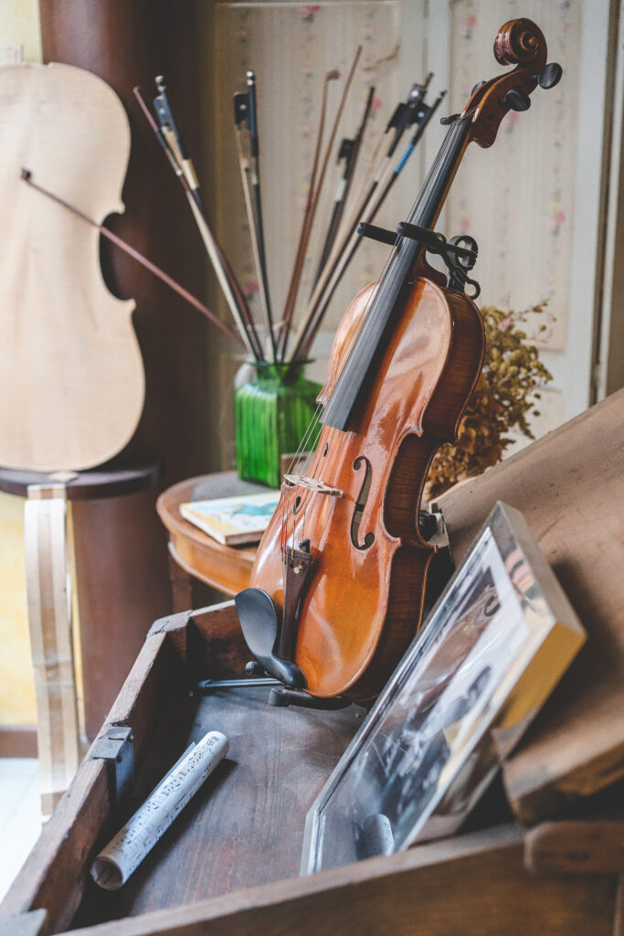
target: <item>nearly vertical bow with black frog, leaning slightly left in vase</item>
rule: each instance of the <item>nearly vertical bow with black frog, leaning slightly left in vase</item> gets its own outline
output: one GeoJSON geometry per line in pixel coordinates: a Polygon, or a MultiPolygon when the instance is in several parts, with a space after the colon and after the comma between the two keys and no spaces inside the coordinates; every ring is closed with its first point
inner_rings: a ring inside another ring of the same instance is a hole
{"type": "Polygon", "coordinates": [[[260,303],[268,333],[268,341],[273,360],[277,359],[275,334],[273,331],[273,318],[271,315],[270,297],[268,294],[267,256],[265,253],[265,235],[262,222],[262,197],[260,194],[260,144],[258,138],[258,118],[255,100],[255,75],[253,71],[247,72],[247,91],[234,95],[234,123],[237,131],[237,148],[239,151],[239,165],[245,194],[245,207],[252,234],[252,247],[254,263],[260,287],[260,303]],[[249,132],[249,159],[245,159],[240,136],[240,124],[246,124],[249,132]],[[254,206],[249,193],[254,193],[254,206]]]}

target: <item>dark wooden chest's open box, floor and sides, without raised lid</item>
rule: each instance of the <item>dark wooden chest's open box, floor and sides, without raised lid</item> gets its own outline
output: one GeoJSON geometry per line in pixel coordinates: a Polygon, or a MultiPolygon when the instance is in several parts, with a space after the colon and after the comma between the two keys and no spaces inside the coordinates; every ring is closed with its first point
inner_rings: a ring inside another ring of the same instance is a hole
{"type": "MultiPolygon", "coordinates": [[[[268,709],[255,699],[256,691],[266,691],[259,688],[245,688],[235,700],[229,693],[191,697],[197,661],[229,665],[223,645],[233,634],[235,616],[227,602],[154,623],[109,713],[109,724],[132,726],[136,739],[133,801],[123,814],[114,810],[103,761],[82,764],[0,908],[3,936],[46,936],[70,926],[77,936],[619,936],[614,915],[621,917],[624,892],[621,885],[618,891],[614,850],[608,863],[598,861],[595,873],[571,876],[568,866],[561,874],[553,867],[548,833],[547,850],[530,852],[530,860],[544,860],[547,852],[548,873],[532,876],[518,826],[296,877],[302,814],[314,797],[312,788],[325,780],[357,724],[348,709],[268,709]],[[125,890],[96,891],[88,869],[98,846],[109,841],[189,737],[220,727],[232,742],[225,764],[125,890]],[[44,923],[37,907],[46,908],[44,923]],[[127,913],[133,915],[115,918],[127,913]],[[107,917],[109,923],[95,922],[107,917]],[[91,921],[94,926],[75,929],[91,921]]],[[[588,835],[578,841],[587,844],[588,835]]],[[[569,836],[562,844],[568,860],[574,856],[569,836]]]]}

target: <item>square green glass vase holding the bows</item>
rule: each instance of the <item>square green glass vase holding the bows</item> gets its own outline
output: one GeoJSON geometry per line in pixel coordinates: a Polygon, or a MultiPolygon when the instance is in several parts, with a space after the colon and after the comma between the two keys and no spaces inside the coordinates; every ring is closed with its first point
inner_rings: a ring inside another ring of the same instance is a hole
{"type": "MultiPolygon", "coordinates": [[[[282,456],[296,452],[316,412],[321,385],[307,380],[310,361],[254,364],[256,378],[235,396],[236,467],[239,477],[269,488],[282,484],[282,456]]],[[[306,440],[310,451],[320,427],[306,440]]]]}

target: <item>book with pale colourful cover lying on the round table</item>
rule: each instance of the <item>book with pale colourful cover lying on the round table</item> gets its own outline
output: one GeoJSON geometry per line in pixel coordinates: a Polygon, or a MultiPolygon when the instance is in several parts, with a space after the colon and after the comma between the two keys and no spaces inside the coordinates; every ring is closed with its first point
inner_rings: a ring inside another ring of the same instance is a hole
{"type": "Polygon", "coordinates": [[[224,546],[240,546],[257,543],[262,538],[279,500],[279,490],[268,490],[261,494],[191,501],[180,505],[180,513],[224,546]]]}

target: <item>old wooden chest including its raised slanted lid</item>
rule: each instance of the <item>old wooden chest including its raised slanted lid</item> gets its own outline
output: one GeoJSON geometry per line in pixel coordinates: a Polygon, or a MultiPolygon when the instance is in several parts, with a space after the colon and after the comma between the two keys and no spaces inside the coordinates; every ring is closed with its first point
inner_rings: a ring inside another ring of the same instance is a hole
{"type": "Polygon", "coordinates": [[[503,764],[503,825],[490,792],[482,827],[299,878],[305,814],[363,710],[273,709],[259,688],[197,695],[199,678],[238,675],[246,659],[229,602],[152,626],[100,735],[131,728],[131,797],[116,803],[96,741],[0,908],[3,936],[624,936],[623,426],[620,393],[442,499],[457,558],[497,498],[523,510],[588,630],[503,764]],[[127,885],[98,890],[98,847],[211,728],[230,738],[225,764],[127,885]]]}

